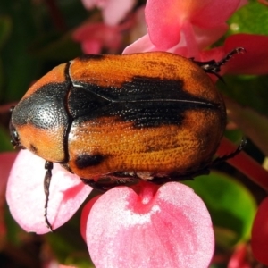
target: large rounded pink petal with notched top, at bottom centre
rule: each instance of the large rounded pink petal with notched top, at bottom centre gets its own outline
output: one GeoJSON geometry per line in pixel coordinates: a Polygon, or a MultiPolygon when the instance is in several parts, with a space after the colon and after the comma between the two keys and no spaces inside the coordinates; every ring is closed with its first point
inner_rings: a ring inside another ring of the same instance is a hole
{"type": "Polygon", "coordinates": [[[113,188],[92,206],[87,244],[96,267],[207,267],[214,232],[200,197],[176,182],[140,189],[113,188]]]}

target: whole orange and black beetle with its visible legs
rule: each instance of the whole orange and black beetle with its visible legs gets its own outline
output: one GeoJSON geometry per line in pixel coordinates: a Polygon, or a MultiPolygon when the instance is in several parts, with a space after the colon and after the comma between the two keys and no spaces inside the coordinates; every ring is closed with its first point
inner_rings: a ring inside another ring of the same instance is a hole
{"type": "MultiPolygon", "coordinates": [[[[207,75],[220,62],[178,54],[80,56],[38,80],[13,108],[14,147],[46,160],[48,203],[53,163],[94,188],[207,173],[226,124],[222,96],[207,75]]],[[[46,223],[51,229],[47,220],[46,223]]]]}

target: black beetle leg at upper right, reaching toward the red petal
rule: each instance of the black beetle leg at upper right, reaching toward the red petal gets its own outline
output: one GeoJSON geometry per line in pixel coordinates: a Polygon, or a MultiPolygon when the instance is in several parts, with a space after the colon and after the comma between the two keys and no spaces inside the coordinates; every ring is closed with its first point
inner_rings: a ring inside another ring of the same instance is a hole
{"type": "Polygon", "coordinates": [[[222,65],[227,63],[234,54],[242,54],[245,52],[246,50],[244,47],[237,47],[231,50],[230,53],[227,54],[224,58],[222,58],[222,60],[219,62],[216,62],[214,60],[208,62],[196,62],[196,61],[193,62],[197,63],[197,65],[199,65],[205,72],[212,73],[216,77],[221,79],[221,76],[218,74],[218,72],[221,71],[222,65]]]}

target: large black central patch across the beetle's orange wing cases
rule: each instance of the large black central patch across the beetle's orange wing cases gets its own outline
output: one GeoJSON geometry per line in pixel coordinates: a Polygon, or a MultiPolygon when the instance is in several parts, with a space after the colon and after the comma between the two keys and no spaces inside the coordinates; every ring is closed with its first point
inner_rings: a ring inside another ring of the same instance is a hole
{"type": "Polygon", "coordinates": [[[69,108],[75,123],[102,116],[117,116],[131,121],[135,127],[157,127],[181,124],[184,112],[208,109],[219,111],[219,105],[193,96],[183,88],[181,80],[133,77],[121,88],[74,83],[69,108]]]}

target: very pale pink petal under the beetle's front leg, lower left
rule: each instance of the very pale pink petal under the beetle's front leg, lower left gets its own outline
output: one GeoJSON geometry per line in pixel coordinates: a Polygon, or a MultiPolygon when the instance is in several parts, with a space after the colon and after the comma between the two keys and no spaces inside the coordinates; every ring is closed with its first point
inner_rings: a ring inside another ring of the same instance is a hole
{"type": "MultiPolygon", "coordinates": [[[[13,218],[22,229],[38,234],[49,231],[44,219],[44,164],[44,159],[22,150],[13,164],[6,189],[13,218]]],[[[48,220],[53,229],[71,218],[91,189],[78,176],[54,163],[48,202],[48,220]]]]}

